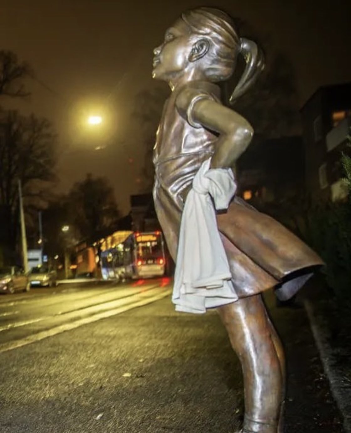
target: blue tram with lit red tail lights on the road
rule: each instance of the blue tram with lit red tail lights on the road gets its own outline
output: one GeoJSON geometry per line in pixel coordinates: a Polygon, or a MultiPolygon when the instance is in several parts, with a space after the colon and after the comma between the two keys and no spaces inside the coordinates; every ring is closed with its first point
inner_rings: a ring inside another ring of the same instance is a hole
{"type": "Polygon", "coordinates": [[[161,277],[165,269],[160,231],[115,232],[101,243],[101,275],[105,280],[161,277]]]}

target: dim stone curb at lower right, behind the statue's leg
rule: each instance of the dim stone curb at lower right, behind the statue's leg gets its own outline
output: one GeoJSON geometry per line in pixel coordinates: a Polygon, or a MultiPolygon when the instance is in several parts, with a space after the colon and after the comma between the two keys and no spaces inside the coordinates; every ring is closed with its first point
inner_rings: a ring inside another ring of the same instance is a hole
{"type": "Polygon", "coordinates": [[[316,320],[312,303],[305,299],[303,304],[307,313],[307,317],[309,318],[312,334],[319,350],[324,371],[330,383],[333,397],[342,417],[344,418],[343,425],[345,433],[351,433],[350,385],[345,386],[344,375],[342,372],[338,371],[338,368],[335,367],[335,355],[326,338],[326,335],[328,335],[328,330],[323,329],[322,326],[319,325],[318,320],[316,320]]]}

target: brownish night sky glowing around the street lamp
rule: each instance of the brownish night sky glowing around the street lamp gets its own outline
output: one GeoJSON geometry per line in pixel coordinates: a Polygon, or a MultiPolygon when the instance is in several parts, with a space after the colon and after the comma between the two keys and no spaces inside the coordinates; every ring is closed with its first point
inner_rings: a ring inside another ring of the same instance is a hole
{"type": "Polygon", "coordinates": [[[104,175],[121,212],[129,211],[130,194],[142,188],[145,153],[133,117],[136,95],[159,85],[151,79],[152,49],[183,10],[196,6],[239,16],[268,38],[272,53],[284,52],[296,70],[300,105],[321,85],[351,81],[349,0],[0,0],[0,48],[36,73],[28,83],[32,96],[17,106],[47,116],[59,134],[56,191],[88,172],[104,175]],[[105,118],[94,134],[83,126],[93,112],[105,118]]]}

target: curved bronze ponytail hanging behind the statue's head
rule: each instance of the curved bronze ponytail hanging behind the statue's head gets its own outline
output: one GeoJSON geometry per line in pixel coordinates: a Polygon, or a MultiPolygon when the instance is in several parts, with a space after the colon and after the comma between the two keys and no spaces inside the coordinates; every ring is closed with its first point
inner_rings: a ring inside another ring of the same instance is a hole
{"type": "Polygon", "coordinates": [[[231,94],[229,99],[230,104],[233,104],[238,97],[251,87],[264,68],[264,55],[256,42],[250,39],[240,38],[240,54],[244,56],[246,66],[239,82],[231,94]]]}

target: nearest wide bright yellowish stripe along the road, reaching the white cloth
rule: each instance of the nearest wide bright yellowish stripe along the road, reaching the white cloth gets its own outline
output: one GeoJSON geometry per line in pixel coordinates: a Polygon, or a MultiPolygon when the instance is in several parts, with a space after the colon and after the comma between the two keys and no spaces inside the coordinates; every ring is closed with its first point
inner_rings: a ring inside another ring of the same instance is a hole
{"type": "Polygon", "coordinates": [[[146,299],[143,299],[141,301],[136,301],[133,304],[124,305],[122,307],[114,308],[113,310],[103,311],[101,313],[94,314],[90,317],[84,317],[82,319],[78,319],[75,322],[65,323],[60,326],[55,326],[54,328],[46,331],[41,331],[39,333],[27,336],[25,338],[11,341],[8,343],[0,344],[0,353],[7,352],[9,350],[16,349],[18,347],[26,346],[27,344],[35,343],[36,341],[40,341],[42,339],[52,337],[54,335],[63,333],[65,331],[70,331],[75,328],[78,328],[79,326],[87,325],[88,323],[97,322],[101,319],[107,319],[108,317],[116,316],[117,314],[124,313],[125,311],[132,310],[136,307],[142,307],[143,305],[151,304],[152,302],[159,301],[160,299],[169,296],[171,294],[172,290],[168,289],[165,291],[162,291],[162,293],[159,293],[155,296],[148,297],[146,299]]]}

